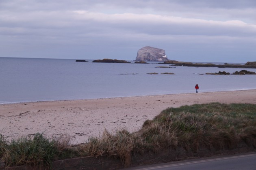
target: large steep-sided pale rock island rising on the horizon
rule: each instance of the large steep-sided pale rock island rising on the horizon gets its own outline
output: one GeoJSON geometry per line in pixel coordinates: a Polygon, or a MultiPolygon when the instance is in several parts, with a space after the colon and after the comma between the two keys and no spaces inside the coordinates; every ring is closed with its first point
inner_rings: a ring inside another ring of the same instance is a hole
{"type": "Polygon", "coordinates": [[[165,50],[147,46],[138,50],[135,61],[165,62],[168,58],[165,50]]]}

